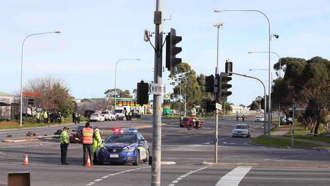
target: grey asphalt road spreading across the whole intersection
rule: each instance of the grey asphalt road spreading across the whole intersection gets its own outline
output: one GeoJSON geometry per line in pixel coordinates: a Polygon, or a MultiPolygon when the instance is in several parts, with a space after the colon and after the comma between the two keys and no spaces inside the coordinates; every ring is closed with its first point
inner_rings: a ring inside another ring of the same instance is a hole
{"type": "MultiPolygon", "coordinates": [[[[249,141],[262,134],[263,128],[249,118],[245,119],[245,123],[253,128],[251,138],[232,138],[231,131],[238,123],[234,117],[219,119],[218,162],[228,163],[227,166],[203,165],[203,162],[214,162],[214,118],[203,119],[204,127],[199,130],[180,128],[178,120],[163,119],[161,161],[173,161],[176,164],[161,165],[161,185],[329,185],[329,168],[315,166],[330,165],[330,151],[253,145],[249,141]],[[263,166],[255,166],[257,164],[263,166]],[[296,167],[302,165],[306,167],[296,167]]],[[[141,127],[139,131],[148,140],[150,148],[152,129],[148,125],[151,123],[151,117],[133,121],[134,126],[141,127]]],[[[131,122],[93,124],[107,131],[119,126],[130,126],[131,122]]],[[[70,128],[74,126],[77,125],[70,128]]],[[[60,128],[32,131],[51,134],[60,128]]],[[[0,132],[1,136],[7,135],[4,131],[0,132]]],[[[26,134],[24,130],[5,132],[11,132],[15,137],[26,134]]],[[[109,132],[105,132],[103,138],[107,134],[109,132]]],[[[30,172],[31,185],[150,185],[151,168],[148,164],[81,166],[80,144],[69,145],[67,161],[70,165],[60,165],[60,148],[56,139],[1,142],[0,185],[7,184],[8,172],[22,171],[30,172]],[[28,154],[30,165],[23,165],[25,154],[28,154]]]]}

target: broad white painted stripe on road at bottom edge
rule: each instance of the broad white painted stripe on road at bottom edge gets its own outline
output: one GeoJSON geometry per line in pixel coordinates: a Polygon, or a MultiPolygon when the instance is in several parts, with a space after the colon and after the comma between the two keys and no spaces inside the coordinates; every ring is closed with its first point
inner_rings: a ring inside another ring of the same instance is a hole
{"type": "Polygon", "coordinates": [[[251,167],[237,167],[222,176],[215,186],[238,186],[250,169],[251,167]]]}

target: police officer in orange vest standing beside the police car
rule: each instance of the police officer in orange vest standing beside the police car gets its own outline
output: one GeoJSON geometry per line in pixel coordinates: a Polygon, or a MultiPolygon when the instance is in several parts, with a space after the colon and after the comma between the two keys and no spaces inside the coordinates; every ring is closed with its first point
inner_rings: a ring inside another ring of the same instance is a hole
{"type": "Polygon", "coordinates": [[[83,144],[83,151],[84,151],[84,157],[83,166],[86,165],[87,160],[87,153],[89,154],[90,163],[93,163],[93,134],[94,130],[90,127],[89,122],[85,123],[85,128],[81,130],[77,136],[80,137],[82,144],[83,144]]]}

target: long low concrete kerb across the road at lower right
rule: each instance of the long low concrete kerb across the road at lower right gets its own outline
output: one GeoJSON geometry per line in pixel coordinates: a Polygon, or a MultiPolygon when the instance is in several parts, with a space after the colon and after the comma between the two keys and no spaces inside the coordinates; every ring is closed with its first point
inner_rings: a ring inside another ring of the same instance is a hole
{"type": "Polygon", "coordinates": [[[328,164],[272,164],[272,163],[213,163],[203,162],[200,165],[214,166],[252,166],[252,167],[309,167],[309,168],[330,168],[328,164]]]}

